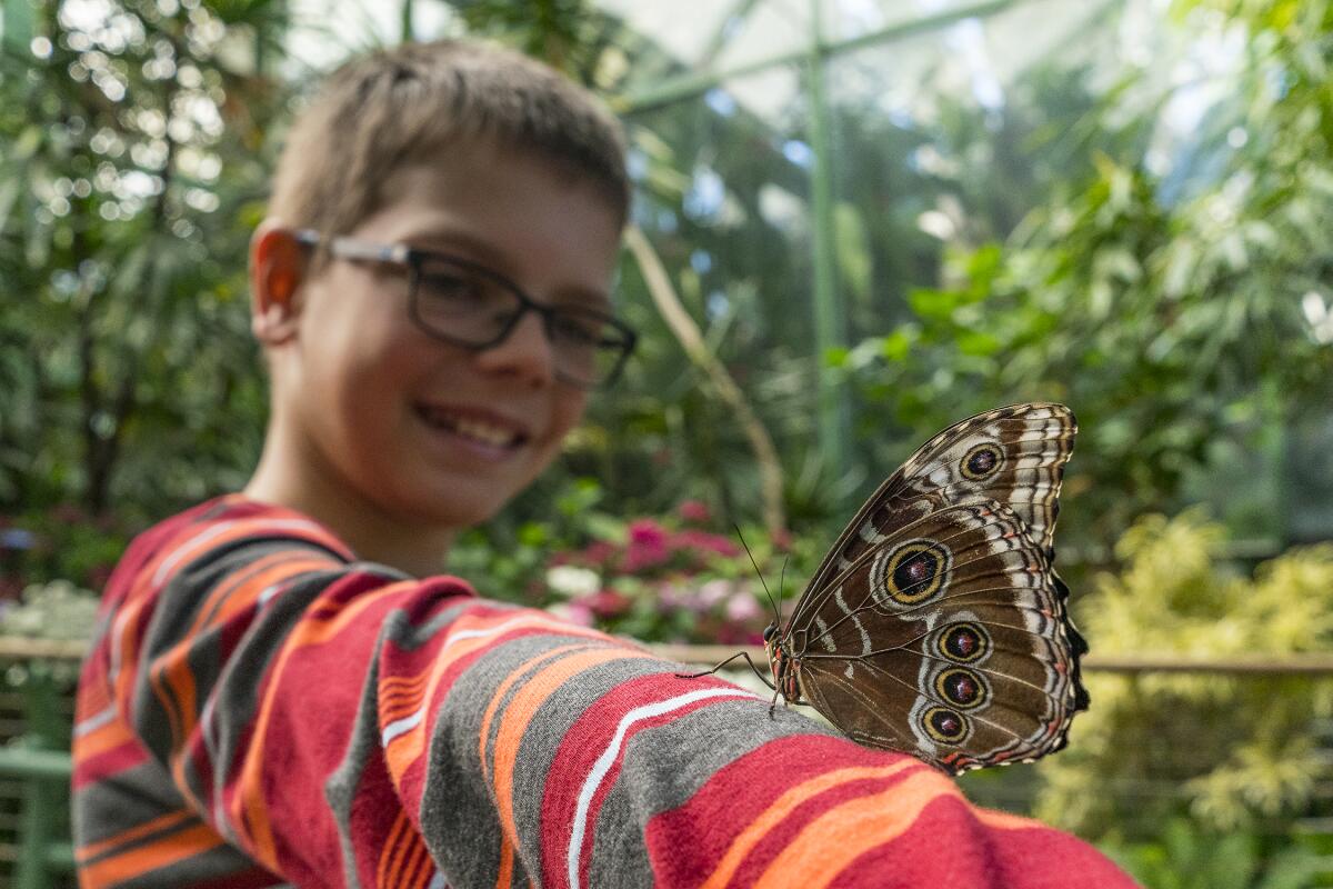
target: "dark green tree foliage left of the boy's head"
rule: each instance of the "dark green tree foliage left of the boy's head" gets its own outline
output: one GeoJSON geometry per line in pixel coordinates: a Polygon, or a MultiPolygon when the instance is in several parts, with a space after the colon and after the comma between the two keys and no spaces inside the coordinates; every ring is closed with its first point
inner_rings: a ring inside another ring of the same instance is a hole
{"type": "Polygon", "coordinates": [[[7,35],[0,512],[140,522],[244,478],[264,411],[245,252],[287,95],[255,64],[276,7],[44,1],[31,41],[7,35]]]}

